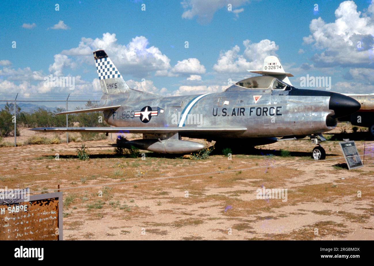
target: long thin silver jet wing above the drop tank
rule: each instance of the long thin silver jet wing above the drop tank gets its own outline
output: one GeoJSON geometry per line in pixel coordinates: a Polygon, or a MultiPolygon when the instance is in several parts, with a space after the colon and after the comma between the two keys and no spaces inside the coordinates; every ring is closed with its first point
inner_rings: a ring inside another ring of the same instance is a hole
{"type": "Polygon", "coordinates": [[[39,132],[98,132],[98,133],[233,133],[244,132],[245,127],[40,127],[39,132]]]}

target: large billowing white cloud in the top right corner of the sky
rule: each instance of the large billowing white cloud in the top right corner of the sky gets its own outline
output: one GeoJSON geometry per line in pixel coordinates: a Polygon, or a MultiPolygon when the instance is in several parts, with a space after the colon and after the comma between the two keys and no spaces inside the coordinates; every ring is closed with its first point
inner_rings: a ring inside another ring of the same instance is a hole
{"type": "Polygon", "coordinates": [[[322,52],[312,60],[316,67],[367,65],[374,62],[374,1],[367,13],[357,10],[354,1],[344,1],[335,10],[335,21],[326,23],[321,17],[313,19],[311,35],[304,44],[312,44],[322,52]]]}

